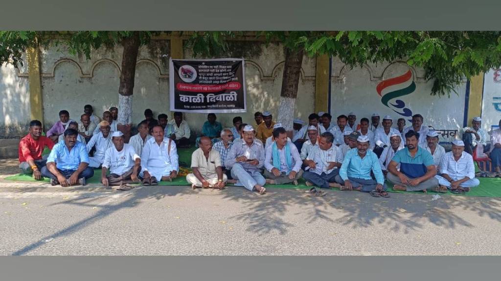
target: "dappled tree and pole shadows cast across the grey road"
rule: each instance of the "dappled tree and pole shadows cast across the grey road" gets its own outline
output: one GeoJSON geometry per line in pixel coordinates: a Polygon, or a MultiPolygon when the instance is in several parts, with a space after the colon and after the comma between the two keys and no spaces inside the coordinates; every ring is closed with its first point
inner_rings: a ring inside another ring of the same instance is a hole
{"type": "MultiPolygon", "coordinates": [[[[20,188],[16,191],[34,192],[40,191],[40,188],[20,188]]],[[[228,220],[241,221],[246,225],[246,231],[257,235],[286,235],[291,228],[297,226],[298,220],[308,224],[322,223],[330,228],[336,225],[349,225],[354,229],[383,226],[398,233],[409,233],[428,223],[448,228],[474,227],[472,219],[461,216],[461,210],[501,222],[499,198],[442,196],[433,201],[429,194],[392,193],[391,198],[374,198],[367,193],[338,190],[329,190],[324,197],[310,198],[304,195],[303,190],[268,188],[266,195],[259,195],[237,186],[228,186],[222,191],[192,190],[189,186],[148,186],[122,192],[104,190],[97,185],[89,188],[94,188],[96,192],[77,193],[54,205],[73,204],[95,208],[94,214],[15,251],[13,255],[27,254],[43,245],[46,239],[69,235],[112,213],[133,208],[144,200],[159,201],[172,196],[189,199],[190,196],[203,195],[214,196],[221,204],[225,201],[239,202],[244,207],[237,214],[228,217],[228,220]],[[102,192],[97,192],[98,190],[102,192]]],[[[79,189],[92,190],[87,187],[79,189]]]]}

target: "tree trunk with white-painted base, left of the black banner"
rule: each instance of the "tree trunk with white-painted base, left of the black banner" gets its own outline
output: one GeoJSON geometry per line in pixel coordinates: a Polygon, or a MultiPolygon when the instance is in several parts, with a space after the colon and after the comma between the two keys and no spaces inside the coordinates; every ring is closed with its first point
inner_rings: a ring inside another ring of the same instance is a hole
{"type": "Polygon", "coordinates": [[[139,31],[130,37],[123,38],[122,72],[118,88],[118,129],[125,135],[126,142],[130,138],[132,124],[132,94],[134,92],[134,76],[136,74],[137,53],[139,51],[139,31]]]}

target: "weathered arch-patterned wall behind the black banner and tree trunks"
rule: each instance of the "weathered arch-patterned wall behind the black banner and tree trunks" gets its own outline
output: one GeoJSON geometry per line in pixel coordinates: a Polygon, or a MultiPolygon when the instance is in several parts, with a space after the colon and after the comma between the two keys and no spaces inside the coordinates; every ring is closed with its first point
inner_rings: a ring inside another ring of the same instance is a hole
{"type": "MultiPolygon", "coordinates": [[[[189,47],[184,46],[183,51],[184,58],[193,58],[189,47]]],[[[247,112],[220,113],[217,115],[218,120],[223,126],[229,127],[236,115],[242,116],[244,122],[253,122],[255,111],[270,110],[277,116],[285,59],[283,46],[273,43],[266,46],[255,41],[232,42],[225,56],[234,55],[246,59],[247,112]]],[[[61,109],[68,110],[72,119],[79,120],[87,103],[94,106],[94,112],[99,116],[109,107],[117,106],[121,47],[101,48],[93,52],[89,60],[85,56],[70,54],[65,47],[43,49],[40,58],[46,129],[59,120],[58,112],[61,109]]],[[[169,119],[172,118],[168,110],[169,58],[169,40],[155,40],[141,47],[133,95],[134,124],[144,119],[146,108],[151,108],[155,115],[167,113],[169,119]]],[[[23,128],[27,128],[26,123],[30,120],[28,79],[25,76],[28,76],[26,69],[18,74],[11,66],[3,67],[0,73],[0,97],[4,106],[0,126],[7,126],[11,132],[15,126],[21,127],[21,132],[17,132],[19,136],[27,131],[23,131],[23,128]]],[[[305,56],[296,115],[306,120],[315,109],[314,103],[315,59],[305,56]]],[[[199,132],[206,121],[206,114],[188,113],[185,119],[193,131],[199,132]]],[[[0,132],[0,136],[5,135],[0,132]]]]}

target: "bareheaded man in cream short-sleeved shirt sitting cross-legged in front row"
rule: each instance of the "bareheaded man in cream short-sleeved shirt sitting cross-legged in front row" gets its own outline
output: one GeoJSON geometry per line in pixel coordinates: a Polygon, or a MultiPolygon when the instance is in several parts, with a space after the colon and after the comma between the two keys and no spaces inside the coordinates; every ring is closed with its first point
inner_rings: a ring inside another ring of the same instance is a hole
{"type": "Polygon", "coordinates": [[[222,172],[221,157],[217,150],[212,149],[212,141],[208,136],[200,137],[199,148],[191,154],[192,173],[186,175],[191,187],[223,189],[227,180],[222,172]]]}

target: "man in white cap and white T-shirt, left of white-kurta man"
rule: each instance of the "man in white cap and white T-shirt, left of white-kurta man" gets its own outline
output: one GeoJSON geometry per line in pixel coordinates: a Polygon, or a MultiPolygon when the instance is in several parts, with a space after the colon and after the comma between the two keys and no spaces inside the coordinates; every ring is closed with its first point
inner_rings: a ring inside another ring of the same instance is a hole
{"type": "Polygon", "coordinates": [[[141,169],[141,159],[134,151],[134,147],[124,143],[121,131],[115,131],[111,135],[113,145],[106,150],[101,182],[105,186],[119,185],[117,190],[129,190],[134,188],[128,183],[139,181],[138,175],[141,169]],[[106,172],[110,169],[110,174],[106,172]]]}

